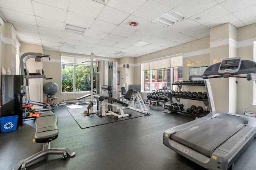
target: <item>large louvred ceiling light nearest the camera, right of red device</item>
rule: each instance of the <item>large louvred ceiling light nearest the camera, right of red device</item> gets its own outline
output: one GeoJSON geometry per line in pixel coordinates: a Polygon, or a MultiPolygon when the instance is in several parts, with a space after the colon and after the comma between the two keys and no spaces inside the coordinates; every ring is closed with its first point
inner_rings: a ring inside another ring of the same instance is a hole
{"type": "Polygon", "coordinates": [[[170,27],[173,24],[184,20],[184,18],[184,16],[178,14],[177,12],[169,11],[163,16],[160,16],[159,18],[154,20],[153,22],[164,27],[170,27]]]}

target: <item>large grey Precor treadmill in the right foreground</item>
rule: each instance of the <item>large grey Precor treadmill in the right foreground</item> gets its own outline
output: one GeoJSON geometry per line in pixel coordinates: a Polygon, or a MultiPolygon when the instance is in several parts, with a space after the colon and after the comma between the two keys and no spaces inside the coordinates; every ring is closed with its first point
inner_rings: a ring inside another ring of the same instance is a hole
{"type": "Polygon", "coordinates": [[[168,148],[211,170],[232,169],[234,161],[256,137],[256,118],[215,111],[210,79],[239,77],[256,80],[256,63],[240,57],[223,59],[209,66],[202,76],[192,75],[190,81],[204,80],[211,112],[205,117],[164,131],[168,148]]]}

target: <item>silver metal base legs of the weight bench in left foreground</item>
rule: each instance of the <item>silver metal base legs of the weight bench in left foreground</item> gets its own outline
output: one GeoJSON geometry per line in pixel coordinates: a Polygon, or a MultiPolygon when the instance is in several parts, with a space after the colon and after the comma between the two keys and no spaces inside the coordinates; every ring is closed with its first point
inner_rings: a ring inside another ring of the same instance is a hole
{"type": "MultiPolygon", "coordinates": [[[[45,144],[44,144],[45,146],[45,144]]],[[[49,146],[49,144],[47,144],[49,146]]],[[[43,147],[44,148],[44,147],[43,147]]],[[[42,156],[45,155],[50,155],[50,154],[63,154],[63,158],[71,157],[74,156],[76,153],[72,152],[70,149],[45,149],[40,152],[37,152],[36,154],[24,159],[20,160],[20,162],[14,167],[13,170],[25,170],[26,165],[33,162],[34,160],[37,160],[38,158],[41,158],[42,156]]]]}

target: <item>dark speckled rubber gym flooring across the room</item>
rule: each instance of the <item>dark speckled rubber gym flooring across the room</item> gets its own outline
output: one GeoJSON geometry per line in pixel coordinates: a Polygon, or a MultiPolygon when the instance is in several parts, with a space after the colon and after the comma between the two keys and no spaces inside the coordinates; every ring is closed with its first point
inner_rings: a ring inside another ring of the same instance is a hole
{"type": "MultiPolygon", "coordinates": [[[[27,165],[27,170],[201,170],[162,142],[164,130],[192,121],[195,117],[167,113],[151,106],[148,115],[81,129],[68,112],[68,106],[55,107],[59,136],[51,148],[69,148],[76,155],[44,156],[27,165]]],[[[124,109],[125,113],[132,113],[124,109]]],[[[81,116],[81,119],[84,117],[81,116]]],[[[100,119],[100,118],[98,118],[100,119]]],[[[26,120],[16,131],[0,134],[0,170],[11,170],[22,159],[42,150],[33,142],[34,120],[26,120]]],[[[195,136],[196,137],[196,136],[195,136]]],[[[234,164],[234,170],[255,170],[256,139],[234,164]]]]}

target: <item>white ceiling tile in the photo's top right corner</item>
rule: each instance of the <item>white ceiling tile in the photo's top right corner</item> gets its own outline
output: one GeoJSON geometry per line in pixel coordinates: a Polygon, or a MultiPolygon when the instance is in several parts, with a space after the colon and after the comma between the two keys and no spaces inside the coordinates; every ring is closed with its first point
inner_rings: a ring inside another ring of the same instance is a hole
{"type": "Polygon", "coordinates": [[[254,4],[256,4],[255,0],[242,0],[242,3],[240,0],[226,0],[221,3],[221,5],[231,13],[242,10],[254,4]]]}

